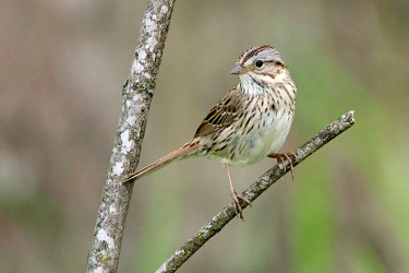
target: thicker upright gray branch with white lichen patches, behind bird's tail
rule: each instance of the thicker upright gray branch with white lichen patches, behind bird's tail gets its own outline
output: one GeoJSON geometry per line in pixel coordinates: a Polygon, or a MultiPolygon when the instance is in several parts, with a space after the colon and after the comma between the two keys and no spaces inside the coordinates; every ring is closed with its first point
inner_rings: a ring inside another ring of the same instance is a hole
{"type": "Polygon", "coordinates": [[[104,188],[87,272],[116,272],[133,183],[120,181],[140,158],[147,112],[165,48],[175,0],[149,0],[130,75],[122,88],[122,112],[104,188]]]}

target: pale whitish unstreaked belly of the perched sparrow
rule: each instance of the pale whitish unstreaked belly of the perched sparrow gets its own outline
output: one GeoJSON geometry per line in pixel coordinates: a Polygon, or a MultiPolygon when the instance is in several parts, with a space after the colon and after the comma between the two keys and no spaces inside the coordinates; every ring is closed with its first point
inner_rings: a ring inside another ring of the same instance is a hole
{"type": "Polygon", "coordinates": [[[236,145],[222,158],[222,163],[231,166],[244,166],[254,164],[269,155],[276,153],[286,141],[292,123],[292,114],[282,114],[274,118],[266,118],[263,126],[261,122],[248,133],[238,131],[236,133],[236,145]]]}

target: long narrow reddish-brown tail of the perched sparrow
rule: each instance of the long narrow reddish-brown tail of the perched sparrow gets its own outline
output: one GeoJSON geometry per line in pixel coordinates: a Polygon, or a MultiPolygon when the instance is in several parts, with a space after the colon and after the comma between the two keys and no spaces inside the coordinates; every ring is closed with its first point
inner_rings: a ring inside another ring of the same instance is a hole
{"type": "Polygon", "coordinates": [[[154,173],[161,167],[165,167],[169,163],[176,159],[182,159],[189,155],[193,155],[195,151],[199,150],[199,138],[193,139],[185,143],[183,146],[179,147],[178,150],[175,150],[173,152],[169,153],[168,155],[165,155],[160,159],[157,159],[154,163],[151,163],[146,167],[131,174],[125,180],[122,181],[122,183],[130,182],[132,180],[140,179],[151,173],[154,173]]]}

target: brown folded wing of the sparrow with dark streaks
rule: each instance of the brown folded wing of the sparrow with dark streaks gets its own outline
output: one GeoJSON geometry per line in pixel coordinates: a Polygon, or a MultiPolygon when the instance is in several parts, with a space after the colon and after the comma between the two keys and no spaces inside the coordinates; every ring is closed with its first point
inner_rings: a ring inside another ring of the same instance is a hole
{"type": "Polygon", "coordinates": [[[194,138],[204,136],[230,126],[238,116],[238,109],[241,107],[239,91],[231,90],[226,96],[212,108],[209,114],[199,126],[194,138]]]}

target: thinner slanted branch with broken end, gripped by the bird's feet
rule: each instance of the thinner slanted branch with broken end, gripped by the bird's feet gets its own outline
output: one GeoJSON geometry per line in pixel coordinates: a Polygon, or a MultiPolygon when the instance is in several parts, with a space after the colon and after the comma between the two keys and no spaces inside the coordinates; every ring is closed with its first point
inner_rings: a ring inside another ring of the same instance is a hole
{"type": "MultiPolygon", "coordinates": [[[[318,132],[310,141],[296,150],[297,161],[292,158],[293,166],[304,161],[308,156],[324,146],[330,140],[339,135],[345,130],[354,124],[353,111],[349,111],[339,119],[330,123],[327,128],[318,132]]],[[[250,201],[254,201],[274,182],[281,178],[290,170],[290,165],[286,162],[286,166],[277,164],[263,176],[261,176],[254,183],[252,183],[242,195],[250,201]]],[[[241,203],[242,207],[246,207],[246,203],[241,203]]],[[[236,213],[232,204],[226,206],[221,212],[214,216],[210,222],[204,225],[195,236],[190,238],[180,249],[178,249],[172,257],[169,258],[157,272],[175,272],[177,271],[194,252],[196,252],[206,241],[220,232],[232,218],[236,213]]]]}

